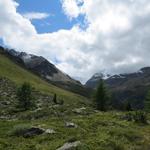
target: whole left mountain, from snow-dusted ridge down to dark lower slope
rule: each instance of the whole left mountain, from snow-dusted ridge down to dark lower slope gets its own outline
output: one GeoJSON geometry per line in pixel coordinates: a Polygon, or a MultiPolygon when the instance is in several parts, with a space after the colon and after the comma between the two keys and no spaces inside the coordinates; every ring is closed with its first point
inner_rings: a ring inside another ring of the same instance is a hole
{"type": "Polygon", "coordinates": [[[90,96],[89,91],[92,91],[91,89],[84,87],[79,81],[72,79],[69,75],[60,71],[44,57],[18,52],[13,49],[5,49],[3,47],[1,47],[1,49],[3,49],[5,55],[15,63],[38,75],[47,82],[83,96],[90,96]]]}

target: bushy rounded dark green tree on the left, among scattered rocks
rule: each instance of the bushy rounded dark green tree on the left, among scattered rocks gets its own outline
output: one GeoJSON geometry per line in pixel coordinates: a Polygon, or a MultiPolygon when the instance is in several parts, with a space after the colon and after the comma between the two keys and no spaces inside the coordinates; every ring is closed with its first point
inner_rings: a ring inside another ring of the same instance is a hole
{"type": "Polygon", "coordinates": [[[23,83],[17,91],[19,107],[28,110],[33,107],[32,87],[29,83],[23,83]]]}

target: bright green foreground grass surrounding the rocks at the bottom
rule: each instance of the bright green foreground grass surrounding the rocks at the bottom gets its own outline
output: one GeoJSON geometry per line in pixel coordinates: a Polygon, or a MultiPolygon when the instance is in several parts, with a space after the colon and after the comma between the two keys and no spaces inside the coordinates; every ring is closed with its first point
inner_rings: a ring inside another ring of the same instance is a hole
{"type": "Polygon", "coordinates": [[[81,141],[78,150],[149,150],[150,125],[140,125],[121,120],[121,112],[93,113],[89,116],[74,116],[70,120],[78,128],[66,128],[59,118],[28,121],[0,121],[1,149],[56,150],[65,142],[81,141]],[[53,135],[32,138],[10,136],[16,126],[40,126],[56,131],[53,135]]]}

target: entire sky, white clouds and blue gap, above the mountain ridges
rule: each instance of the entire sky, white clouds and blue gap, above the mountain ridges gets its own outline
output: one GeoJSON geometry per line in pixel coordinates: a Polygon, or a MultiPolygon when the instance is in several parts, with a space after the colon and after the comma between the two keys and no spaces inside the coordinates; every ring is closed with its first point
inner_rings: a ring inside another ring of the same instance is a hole
{"type": "Polygon", "coordinates": [[[150,64],[149,0],[0,0],[0,45],[40,55],[71,77],[150,64]]]}

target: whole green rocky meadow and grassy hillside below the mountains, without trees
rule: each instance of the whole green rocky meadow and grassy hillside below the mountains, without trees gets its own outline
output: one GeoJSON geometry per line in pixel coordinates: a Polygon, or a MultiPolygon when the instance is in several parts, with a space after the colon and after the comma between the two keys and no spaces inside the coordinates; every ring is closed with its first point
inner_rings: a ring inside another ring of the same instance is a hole
{"type": "Polygon", "coordinates": [[[135,112],[95,109],[91,98],[66,91],[0,53],[0,149],[2,150],[148,150],[147,123],[135,112]],[[36,107],[21,111],[17,88],[32,85],[36,107]],[[56,104],[54,94],[57,95],[56,104]],[[63,103],[59,103],[63,101],[63,103]],[[131,117],[131,118],[130,118],[131,117]]]}

